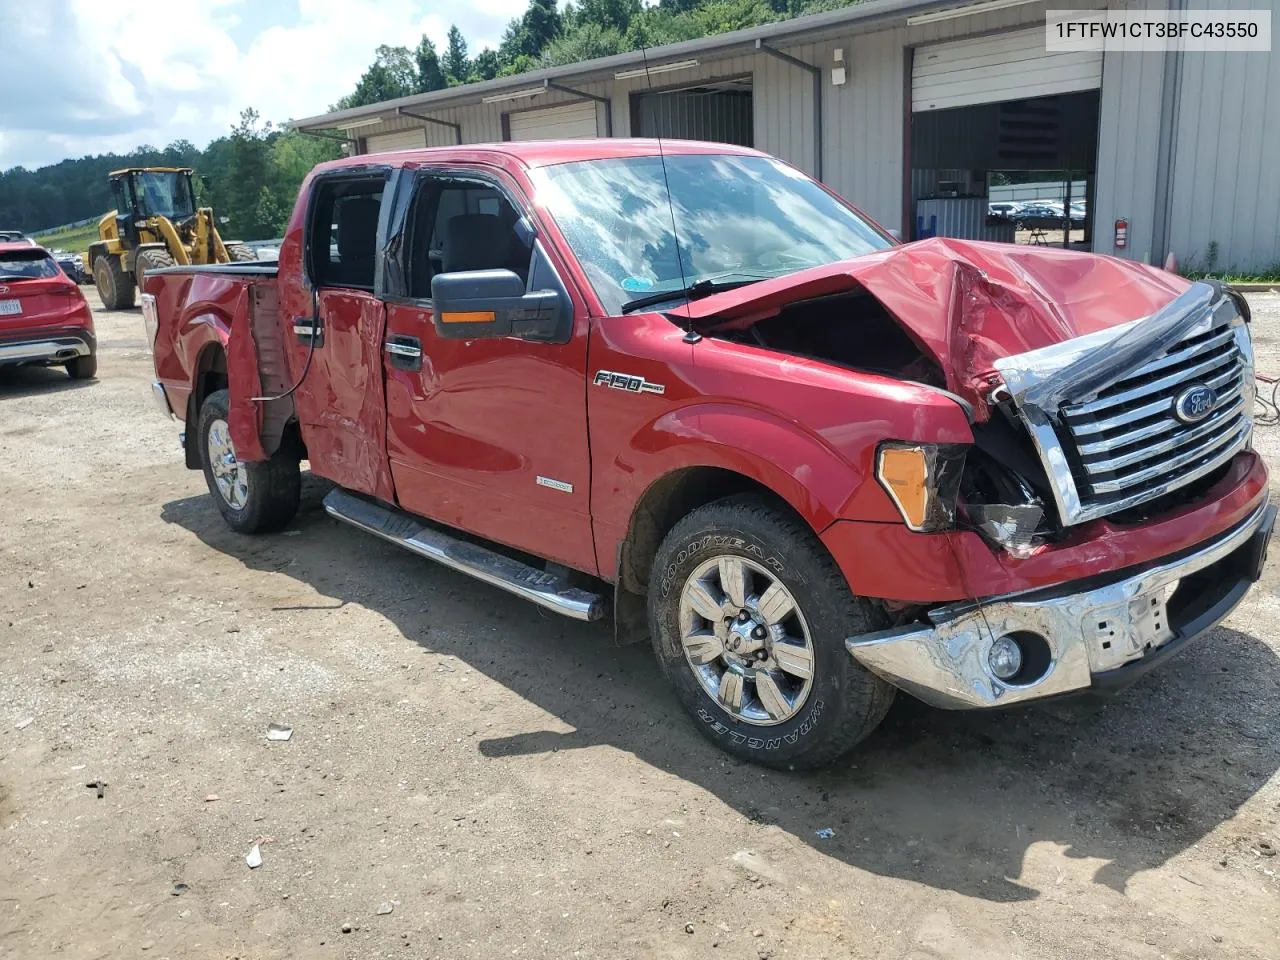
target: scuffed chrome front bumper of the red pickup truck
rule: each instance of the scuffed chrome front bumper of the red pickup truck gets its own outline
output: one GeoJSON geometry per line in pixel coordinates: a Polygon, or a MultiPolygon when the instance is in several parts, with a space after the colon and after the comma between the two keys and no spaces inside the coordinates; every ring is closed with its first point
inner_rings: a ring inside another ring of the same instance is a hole
{"type": "Polygon", "coordinates": [[[1216,540],[1120,580],[950,604],[929,611],[932,626],[883,630],[845,645],[873,673],[946,709],[1124,686],[1235,608],[1261,572],[1275,515],[1263,503],[1216,540]],[[1047,668],[1029,682],[1005,682],[987,664],[991,645],[1009,634],[1047,645],[1047,668]]]}

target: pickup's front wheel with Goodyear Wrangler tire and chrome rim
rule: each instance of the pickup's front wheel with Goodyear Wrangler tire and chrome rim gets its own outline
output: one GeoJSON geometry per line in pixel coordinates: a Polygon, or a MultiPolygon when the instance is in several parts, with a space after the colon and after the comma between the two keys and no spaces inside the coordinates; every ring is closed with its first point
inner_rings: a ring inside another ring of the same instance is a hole
{"type": "Polygon", "coordinates": [[[650,635],[676,695],[721,749],[767,767],[822,767],[879,724],[893,687],[845,639],[882,626],[813,531],[763,497],[692,511],[649,575],[650,635]]]}

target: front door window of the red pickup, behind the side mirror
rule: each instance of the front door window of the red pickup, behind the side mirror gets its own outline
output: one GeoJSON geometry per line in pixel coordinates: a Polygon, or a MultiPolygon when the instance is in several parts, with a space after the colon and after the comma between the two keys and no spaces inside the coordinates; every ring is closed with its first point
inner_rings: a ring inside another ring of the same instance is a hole
{"type": "Polygon", "coordinates": [[[532,238],[495,187],[425,179],[410,211],[408,293],[431,297],[431,278],[466,270],[511,270],[529,282],[532,238]]]}

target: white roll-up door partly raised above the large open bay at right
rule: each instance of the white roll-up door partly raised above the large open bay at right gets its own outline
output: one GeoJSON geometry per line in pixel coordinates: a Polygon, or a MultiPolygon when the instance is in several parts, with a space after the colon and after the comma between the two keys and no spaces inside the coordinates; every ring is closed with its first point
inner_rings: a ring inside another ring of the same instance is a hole
{"type": "Polygon", "coordinates": [[[911,110],[1073,93],[1102,86],[1102,52],[1048,52],[1043,29],[918,47],[911,110]]]}

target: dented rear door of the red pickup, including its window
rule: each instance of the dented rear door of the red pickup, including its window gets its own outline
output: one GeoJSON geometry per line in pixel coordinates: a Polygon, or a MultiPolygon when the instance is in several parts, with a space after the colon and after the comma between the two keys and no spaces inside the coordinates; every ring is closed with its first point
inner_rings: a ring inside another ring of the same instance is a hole
{"type": "Polygon", "coordinates": [[[387,311],[374,291],[387,184],[383,172],[364,170],[325,177],[312,187],[305,269],[315,311],[310,296],[289,297],[287,342],[294,376],[310,355],[294,406],[311,471],[392,500],[383,384],[387,311]]]}

